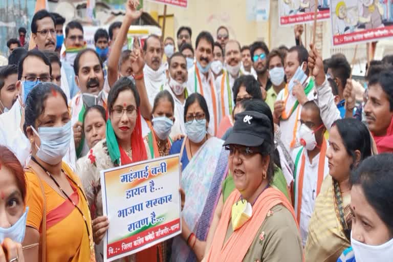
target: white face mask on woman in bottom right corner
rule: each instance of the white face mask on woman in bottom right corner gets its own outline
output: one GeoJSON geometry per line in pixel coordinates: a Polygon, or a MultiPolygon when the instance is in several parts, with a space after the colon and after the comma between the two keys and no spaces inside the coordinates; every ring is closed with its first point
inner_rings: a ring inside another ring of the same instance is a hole
{"type": "Polygon", "coordinates": [[[352,237],[351,245],[355,253],[356,262],[391,261],[393,257],[393,238],[379,246],[369,246],[352,237]]]}

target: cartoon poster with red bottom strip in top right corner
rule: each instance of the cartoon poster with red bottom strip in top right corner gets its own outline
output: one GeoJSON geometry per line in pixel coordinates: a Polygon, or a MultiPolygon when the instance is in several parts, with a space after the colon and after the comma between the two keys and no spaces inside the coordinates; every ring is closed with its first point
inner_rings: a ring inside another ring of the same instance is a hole
{"type": "Polygon", "coordinates": [[[393,36],[391,0],[331,0],[333,46],[393,36]]]}

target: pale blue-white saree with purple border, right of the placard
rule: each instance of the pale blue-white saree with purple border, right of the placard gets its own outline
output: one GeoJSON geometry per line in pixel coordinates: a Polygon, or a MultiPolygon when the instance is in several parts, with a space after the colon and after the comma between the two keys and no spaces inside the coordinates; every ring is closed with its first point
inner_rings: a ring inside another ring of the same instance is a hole
{"type": "MultiPolygon", "coordinates": [[[[221,184],[228,172],[229,152],[223,148],[223,143],[215,137],[208,139],[182,172],[182,188],[187,196],[183,219],[201,241],[206,241],[221,184]]],[[[173,239],[171,261],[197,261],[181,236],[173,239]]]]}

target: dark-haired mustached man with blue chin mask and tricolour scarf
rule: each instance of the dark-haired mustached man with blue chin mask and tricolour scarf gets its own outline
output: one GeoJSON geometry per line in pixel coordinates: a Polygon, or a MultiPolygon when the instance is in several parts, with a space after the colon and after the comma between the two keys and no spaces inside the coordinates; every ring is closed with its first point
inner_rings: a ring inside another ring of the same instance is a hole
{"type": "Polygon", "coordinates": [[[187,90],[188,94],[197,92],[205,98],[210,114],[208,133],[214,136],[219,125],[220,108],[220,99],[217,97],[214,86],[214,76],[210,70],[214,39],[209,32],[202,31],[197,37],[195,47],[196,62],[188,70],[187,90]]]}

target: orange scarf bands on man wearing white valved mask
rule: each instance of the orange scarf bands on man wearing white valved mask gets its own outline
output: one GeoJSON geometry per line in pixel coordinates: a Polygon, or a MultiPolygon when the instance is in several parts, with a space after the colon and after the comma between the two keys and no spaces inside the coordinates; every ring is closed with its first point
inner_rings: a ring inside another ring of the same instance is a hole
{"type": "MultiPolygon", "coordinates": [[[[303,152],[304,148],[300,150],[300,152],[303,152]]],[[[302,200],[302,194],[303,194],[303,180],[304,180],[304,166],[305,166],[305,154],[307,152],[304,152],[301,156],[301,165],[300,165],[300,170],[299,170],[299,181],[298,181],[298,190],[297,190],[297,222],[300,224],[300,211],[301,211],[301,200],[302,200]]],[[[319,163],[318,163],[318,180],[317,180],[317,194],[319,194],[323,182],[323,177],[324,177],[324,169],[325,169],[325,156],[326,156],[326,140],[323,139],[322,141],[322,146],[319,154],[319,163]]],[[[298,160],[298,158],[297,158],[298,160]]],[[[295,173],[294,173],[294,198],[296,198],[296,171],[297,171],[297,161],[295,164],[295,173]]],[[[296,206],[296,205],[295,205],[296,206]]]]}

